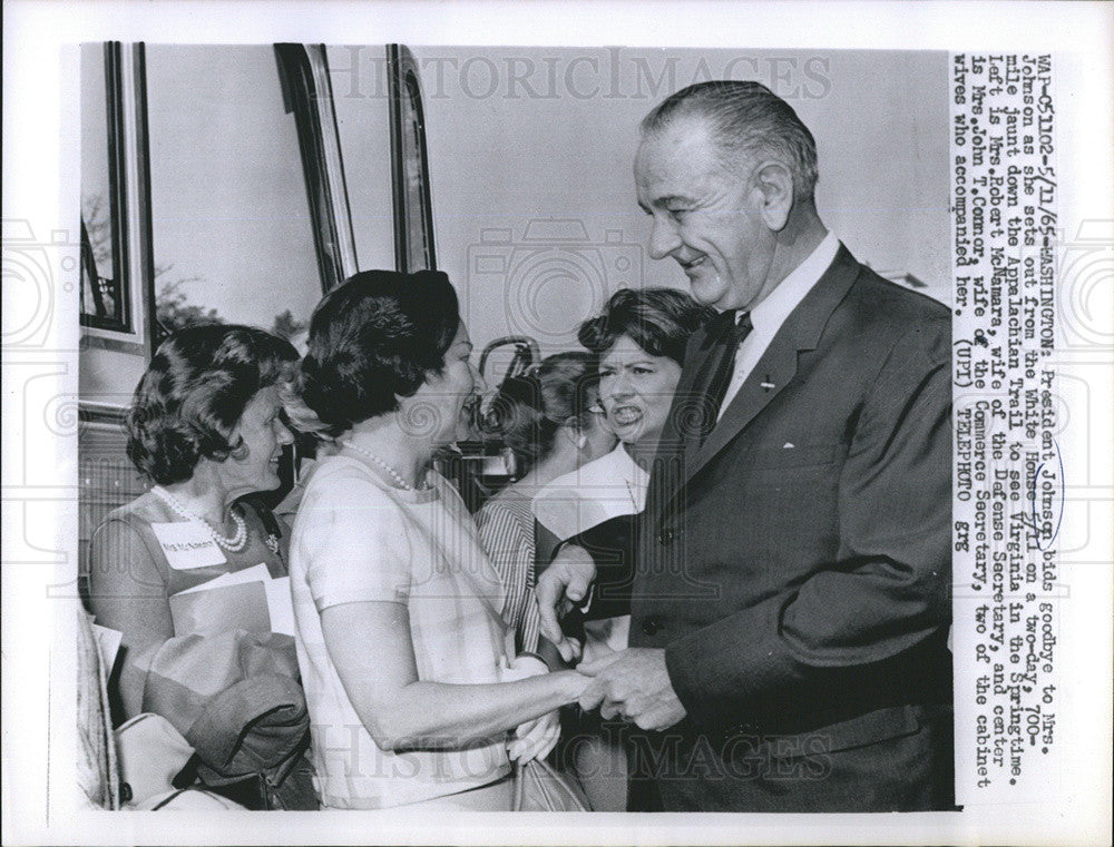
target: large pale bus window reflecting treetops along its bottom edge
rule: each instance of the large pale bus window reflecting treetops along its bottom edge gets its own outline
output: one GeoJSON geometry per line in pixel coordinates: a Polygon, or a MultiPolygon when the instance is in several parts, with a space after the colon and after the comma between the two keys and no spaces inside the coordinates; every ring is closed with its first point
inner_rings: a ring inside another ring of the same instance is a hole
{"type": "Polygon", "coordinates": [[[296,336],[325,286],[273,48],[150,45],[146,70],[159,324],[296,336]]]}

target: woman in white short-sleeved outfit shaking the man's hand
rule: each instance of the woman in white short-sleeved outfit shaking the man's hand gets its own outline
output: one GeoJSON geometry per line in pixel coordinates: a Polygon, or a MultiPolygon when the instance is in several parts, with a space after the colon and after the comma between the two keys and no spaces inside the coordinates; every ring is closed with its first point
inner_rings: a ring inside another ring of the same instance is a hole
{"type": "Polygon", "coordinates": [[[501,581],[432,470],[465,431],[471,348],[437,272],[356,274],[310,323],[291,412],[340,450],[306,485],[291,588],[329,807],[509,809],[510,759],[545,756],[585,687],[509,661],[501,581]]]}

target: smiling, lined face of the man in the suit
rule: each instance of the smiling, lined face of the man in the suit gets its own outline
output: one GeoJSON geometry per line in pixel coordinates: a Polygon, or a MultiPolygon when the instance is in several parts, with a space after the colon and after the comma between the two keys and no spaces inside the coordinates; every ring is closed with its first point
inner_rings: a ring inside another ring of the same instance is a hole
{"type": "Polygon", "coordinates": [[[635,158],[638,205],[653,218],[651,256],[674,258],[693,296],[720,311],[749,308],[772,287],[775,234],[751,181],[724,167],[696,117],[646,136],[635,158]]]}

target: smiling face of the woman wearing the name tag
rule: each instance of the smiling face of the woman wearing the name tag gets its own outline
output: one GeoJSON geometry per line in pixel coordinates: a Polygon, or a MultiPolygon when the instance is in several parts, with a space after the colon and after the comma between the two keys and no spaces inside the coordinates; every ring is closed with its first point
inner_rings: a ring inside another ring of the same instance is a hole
{"type": "Polygon", "coordinates": [[[294,441],[293,434],[278,417],[281,410],[277,385],[263,388],[244,408],[232,435],[234,444],[238,439],[243,439],[243,444],[217,465],[228,492],[247,493],[278,487],[282,449],[294,441]]]}

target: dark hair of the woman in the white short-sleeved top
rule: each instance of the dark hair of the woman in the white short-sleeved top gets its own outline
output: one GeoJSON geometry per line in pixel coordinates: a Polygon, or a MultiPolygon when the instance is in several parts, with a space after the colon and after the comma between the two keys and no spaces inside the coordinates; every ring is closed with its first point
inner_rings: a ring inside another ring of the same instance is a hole
{"type": "Polygon", "coordinates": [[[412,396],[429,373],[441,373],[459,326],[457,293],[440,272],[349,277],[313,312],[294,392],[304,408],[287,403],[292,421],[335,439],[395,411],[399,397],[412,396]]]}

